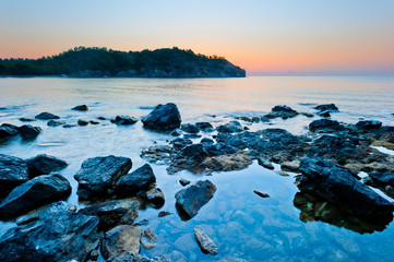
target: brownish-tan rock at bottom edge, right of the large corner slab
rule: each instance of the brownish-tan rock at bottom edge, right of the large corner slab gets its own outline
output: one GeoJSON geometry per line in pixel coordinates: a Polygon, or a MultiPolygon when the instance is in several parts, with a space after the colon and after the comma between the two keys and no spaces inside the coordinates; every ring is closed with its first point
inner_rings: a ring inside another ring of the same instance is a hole
{"type": "Polygon", "coordinates": [[[140,253],[141,228],[121,225],[107,231],[102,240],[100,251],[104,259],[121,258],[127,252],[140,253]]]}

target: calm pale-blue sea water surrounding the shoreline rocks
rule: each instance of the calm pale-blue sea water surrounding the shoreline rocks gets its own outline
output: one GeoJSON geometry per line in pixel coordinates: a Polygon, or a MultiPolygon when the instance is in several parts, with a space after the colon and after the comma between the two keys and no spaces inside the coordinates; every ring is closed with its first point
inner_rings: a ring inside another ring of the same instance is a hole
{"type": "MultiPolygon", "coordinates": [[[[355,123],[374,119],[394,126],[394,78],[0,79],[0,123],[21,126],[20,117],[34,118],[41,111],[59,115],[71,124],[79,119],[117,115],[141,118],[155,105],[169,102],[178,105],[183,122],[192,123],[210,121],[217,126],[237,116],[263,116],[275,105],[314,112],[317,104],[335,103],[341,110],[333,114],[335,120],[355,123]],[[81,104],[89,110],[71,110],[81,104]]],[[[301,134],[312,120],[299,116],[274,120],[272,126],[252,124],[250,129],[280,127],[301,134]]],[[[11,140],[0,144],[0,153],[22,158],[49,154],[67,160],[69,166],[61,174],[73,187],[68,202],[79,206],[82,204],[75,194],[73,175],[84,159],[109,154],[128,156],[135,169],[145,163],[140,158],[141,150],[172,139],[144,130],[141,121],[118,127],[100,120],[97,126],[70,129],[50,128],[46,121],[32,123],[44,130],[35,141],[11,140]]],[[[394,257],[393,225],[380,233],[360,235],[322,222],[301,222],[300,211],[292,205],[298,191],[294,174],[278,176],[279,167],[271,171],[253,163],[241,171],[210,177],[188,171],[168,175],[166,166],[160,165],[153,168],[166,204],[160,210],[141,211],[136,219],[150,221],[146,227],[157,235],[156,247],[142,250],[148,257],[166,254],[174,261],[392,261],[394,257]],[[182,222],[175,209],[174,195],[182,188],[180,178],[210,179],[217,187],[214,198],[188,222],[182,222]],[[253,189],[271,198],[261,199],[253,189]],[[158,218],[159,211],[174,214],[158,218]],[[196,225],[218,246],[216,257],[202,254],[193,239],[196,225]]],[[[0,235],[12,226],[0,223],[0,235]]]]}

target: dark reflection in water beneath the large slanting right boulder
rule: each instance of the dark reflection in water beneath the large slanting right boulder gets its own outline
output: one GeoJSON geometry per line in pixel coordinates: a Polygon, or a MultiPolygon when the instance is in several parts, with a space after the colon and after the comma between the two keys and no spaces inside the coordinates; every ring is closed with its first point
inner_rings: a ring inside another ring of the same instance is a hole
{"type": "Polygon", "coordinates": [[[300,219],[305,223],[320,221],[337,227],[345,227],[359,234],[383,231],[393,221],[393,215],[391,218],[387,217],[387,219],[366,221],[365,218],[350,215],[346,210],[333,203],[302,191],[296,193],[294,205],[301,211],[300,219]]]}

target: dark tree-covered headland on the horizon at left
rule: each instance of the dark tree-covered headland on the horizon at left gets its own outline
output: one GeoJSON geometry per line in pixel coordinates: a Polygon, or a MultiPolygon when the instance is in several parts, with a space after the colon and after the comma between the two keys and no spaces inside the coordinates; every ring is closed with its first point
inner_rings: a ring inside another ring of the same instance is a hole
{"type": "Polygon", "coordinates": [[[244,78],[246,71],[225,58],[196,55],[177,47],[129,52],[75,47],[39,59],[0,59],[0,75],[244,78]]]}

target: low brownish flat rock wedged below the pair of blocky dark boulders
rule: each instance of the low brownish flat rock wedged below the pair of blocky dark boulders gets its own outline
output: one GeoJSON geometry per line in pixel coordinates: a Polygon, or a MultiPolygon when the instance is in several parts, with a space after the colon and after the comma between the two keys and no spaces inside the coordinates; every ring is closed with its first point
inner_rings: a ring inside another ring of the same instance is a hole
{"type": "Polygon", "coordinates": [[[134,199],[112,200],[83,207],[79,213],[97,216],[98,229],[107,231],[119,225],[132,225],[139,216],[140,202],[134,199]]]}

